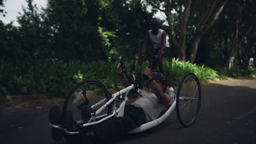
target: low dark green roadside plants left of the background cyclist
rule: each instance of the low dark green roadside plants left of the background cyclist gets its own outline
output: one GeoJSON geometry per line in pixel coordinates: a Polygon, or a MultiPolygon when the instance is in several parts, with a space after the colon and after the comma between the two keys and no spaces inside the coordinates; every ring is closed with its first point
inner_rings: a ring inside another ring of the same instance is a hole
{"type": "MultiPolygon", "coordinates": [[[[68,94],[77,83],[96,79],[110,84],[118,76],[114,73],[117,64],[107,62],[63,62],[54,59],[13,65],[0,63],[0,96],[8,93],[50,93],[61,97],[68,94]]],[[[120,85],[120,84],[119,84],[120,85]]],[[[117,83],[112,87],[120,87],[117,83]]]]}

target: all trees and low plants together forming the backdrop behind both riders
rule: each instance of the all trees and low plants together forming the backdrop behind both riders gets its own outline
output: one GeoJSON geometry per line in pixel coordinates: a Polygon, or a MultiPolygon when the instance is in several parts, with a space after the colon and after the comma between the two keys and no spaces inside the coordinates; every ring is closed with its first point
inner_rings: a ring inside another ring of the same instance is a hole
{"type": "MultiPolygon", "coordinates": [[[[255,75],[248,68],[251,57],[256,65],[254,0],[48,0],[46,8],[26,2],[19,26],[0,20],[0,99],[11,92],[67,93],[85,79],[112,83],[113,62],[119,55],[128,65],[134,62],[159,10],[167,23],[160,27],[170,38],[166,56],[176,57],[164,64],[177,83],[191,71],[215,79],[203,64],[229,67],[232,58],[243,69],[220,69],[220,77],[255,75]]],[[[3,7],[0,0],[1,16],[3,7]]]]}

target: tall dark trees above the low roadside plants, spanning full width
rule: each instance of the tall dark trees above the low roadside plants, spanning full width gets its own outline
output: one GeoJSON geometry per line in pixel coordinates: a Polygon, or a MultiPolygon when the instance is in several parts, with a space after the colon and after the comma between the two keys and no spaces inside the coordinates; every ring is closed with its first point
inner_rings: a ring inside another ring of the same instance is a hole
{"type": "MultiPolygon", "coordinates": [[[[161,28],[170,37],[168,52],[174,53],[167,56],[214,67],[228,65],[230,57],[247,67],[245,61],[255,57],[252,0],[48,0],[44,9],[33,0],[26,2],[18,27],[0,21],[4,61],[113,61],[120,54],[131,59],[139,55],[149,21],[158,10],[166,15],[162,22],[167,26],[161,28]]],[[[2,9],[3,0],[0,5],[2,9]]]]}

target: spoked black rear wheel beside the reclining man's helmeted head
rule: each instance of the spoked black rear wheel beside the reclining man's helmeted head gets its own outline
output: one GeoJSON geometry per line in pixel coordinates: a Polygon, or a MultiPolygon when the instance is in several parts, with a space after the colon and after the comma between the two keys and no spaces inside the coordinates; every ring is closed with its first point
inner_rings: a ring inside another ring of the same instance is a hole
{"type": "Polygon", "coordinates": [[[200,82],[195,74],[189,73],[185,75],[181,80],[181,83],[179,83],[177,97],[176,97],[177,117],[178,117],[179,123],[181,123],[183,127],[189,127],[195,122],[199,114],[200,105],[201,105],[200,82]],[[183,111],[183,107],[185,106],[188,106],[188,107],[186,107],[183,111]],[[195,106],[195,109],[194,109],[194,106],[195,106]]]}

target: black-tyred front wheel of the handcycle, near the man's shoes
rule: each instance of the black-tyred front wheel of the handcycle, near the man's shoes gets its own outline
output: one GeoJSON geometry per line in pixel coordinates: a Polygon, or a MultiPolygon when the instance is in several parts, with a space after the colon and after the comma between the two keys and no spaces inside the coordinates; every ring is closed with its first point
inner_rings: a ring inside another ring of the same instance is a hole
{"type": "MultiPolygon", "coordinates": [[[[91,105],[97,103],[98,101],[104,98],[107,98],[107,100],[109,100],[112,97],[112,95],[108,92],[107,88],[99,81],[86,80],[78,83],[78,85],[75,86],[72,89],[72,91],[68,94],[68,96],[66,97],[65,103],[63,104],[62,113],[61,113],[62,125],[63,125],[63,122],[65,122],[65,113],[67,110],[72,111],[74,121],[79,121],[82,119],[82,110],[78,109],[77,106],[79,104],[84,103],[84,101],[86,101],[85,98],[82,98],[83,96],[82,94],[84,91],[86,92],[86,98],[88,98],[88,104],[84,105],[86,107],[90,107],[91,105]],[[97,91],[95,91],[95,89],[97,89],[97,91]],[[95,92],[98,94],[89,95],[88,94],[89,91],[91,91],[91,93],[95,92]]],[[[99,108],[100,106],[97,106],[95,110],[92,110],[92,112],[96,111],[97,108],[99,108]]],[[[112,105],[109,105],[106,109],[104,109],[103,112],[108,113],[108,115],[110,115],[111,111],[112,111],[112,105]]]]}

